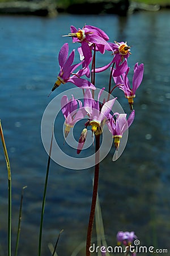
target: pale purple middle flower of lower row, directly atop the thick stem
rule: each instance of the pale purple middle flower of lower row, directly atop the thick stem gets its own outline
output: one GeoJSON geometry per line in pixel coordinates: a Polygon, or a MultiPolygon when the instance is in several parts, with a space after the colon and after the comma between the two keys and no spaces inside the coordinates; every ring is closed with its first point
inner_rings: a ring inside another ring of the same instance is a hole
{"type": "Polygon", "coordinates": [[[99,98],[104,88],[100,90],[98,94],[98,100],[95,101],[92,97],[90,89],[87,89],[84,94],[84,110],[86,110],[88,117],[90,118],[89,125],[92,126],[91,130],[95,133],[97,128],[104,126],[104,123],[107,121],[108,115],[112,110],[112,106],[116,98],[103,102],[103,106],[99,104],[99,98]]]}

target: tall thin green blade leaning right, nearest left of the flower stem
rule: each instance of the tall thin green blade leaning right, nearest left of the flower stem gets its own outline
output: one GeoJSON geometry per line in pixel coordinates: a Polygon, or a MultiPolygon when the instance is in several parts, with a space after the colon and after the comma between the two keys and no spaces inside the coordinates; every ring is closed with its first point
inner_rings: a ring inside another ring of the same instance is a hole
{"type": "Polygon", "coordinates": [[[51,159],[50,156],[51,156],[51,153],[52,153],[52,142],[53,142],[53,133],[52,133],[52,139],[51,139],[51,142],[50,142],[50,150],[49,150],[48,163],[47,163],[47,167],[46,167],[45,184],[44,184],[44,195],[43,195],[43,199],[42,199],[40,231],[39,231],[39,252],[38,252],[38,256],[41,256],[42,225],[43,225],[43,220],[44,220],[46,188],[47,188],[47,184],[48,184],[49,167],[50,167],[50,159],[51,159]]]}

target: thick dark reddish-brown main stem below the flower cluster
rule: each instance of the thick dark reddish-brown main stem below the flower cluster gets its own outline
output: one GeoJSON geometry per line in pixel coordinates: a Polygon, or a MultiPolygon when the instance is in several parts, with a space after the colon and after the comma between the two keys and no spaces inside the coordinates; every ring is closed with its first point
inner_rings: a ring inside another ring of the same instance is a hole
{"type": "Polygon", "coordinates": [[[91,246],[91,237],[92,237],[92,228],[94,225],[95,209],[96,209],[96,200],[97,200],[97,191],[99,183],[99,161],[100,159],[100,134],[95,135],[95,175],[94,175],[94,189],[92,193],[91,201],[91,210],[90,217],[88,221],[87,229],[87,240],[86,240],[86,256],[90,256],[90,246],[91,246]]]}

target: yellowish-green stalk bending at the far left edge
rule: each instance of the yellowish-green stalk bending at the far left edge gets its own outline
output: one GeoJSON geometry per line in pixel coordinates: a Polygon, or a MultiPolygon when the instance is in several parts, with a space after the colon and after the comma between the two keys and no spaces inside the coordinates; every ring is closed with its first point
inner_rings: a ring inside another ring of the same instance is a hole
{"type": "Polygon", "coordinates": [[[1,120],[0,120],[0,135],[1,135],[1,141],[2,141],[3,151],[5,155],[5,160],[6,160],[7,172],[8,172],[8,256],[11,256],[11,215],[12,215],[11,167],[10,167],[10,160],[8,159],[5,139],[3,137],[1,120]]]}

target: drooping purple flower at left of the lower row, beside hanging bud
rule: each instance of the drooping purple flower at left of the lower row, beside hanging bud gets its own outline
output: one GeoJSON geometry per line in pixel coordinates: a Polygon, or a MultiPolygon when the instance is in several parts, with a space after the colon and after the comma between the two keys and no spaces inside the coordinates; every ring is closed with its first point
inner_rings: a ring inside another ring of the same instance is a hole
{"type": "Polygon", "coordinates": [[[61,111],[65,117],[65,138],[69,134],[71,127],[75,125],[80,119],[86,115],[84,109],[82,108],[82,102],[80,100],[75,100],[72,95],[72,99],[68,100],[67,96],[64,95],[61,99],[61,111]],[[79,104],[79,108],[78,108],[79,104]]]}

